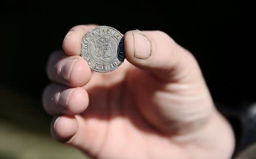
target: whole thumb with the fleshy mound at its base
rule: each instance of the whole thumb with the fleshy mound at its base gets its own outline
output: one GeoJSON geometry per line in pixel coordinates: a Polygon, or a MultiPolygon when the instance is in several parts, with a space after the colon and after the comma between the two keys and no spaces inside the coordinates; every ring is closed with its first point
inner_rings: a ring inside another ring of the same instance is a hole
{"type": "Polygon", "coordinates": [[[208,120],[213,103],[191,53],[160,31],[126,32],[125,49],[131,64],[158,80],[142,80],[143,89],[131,89],[139,94],[134,99],[144,118],[163,132],[192,132],[203,126],[199,123],[208,120]]]}

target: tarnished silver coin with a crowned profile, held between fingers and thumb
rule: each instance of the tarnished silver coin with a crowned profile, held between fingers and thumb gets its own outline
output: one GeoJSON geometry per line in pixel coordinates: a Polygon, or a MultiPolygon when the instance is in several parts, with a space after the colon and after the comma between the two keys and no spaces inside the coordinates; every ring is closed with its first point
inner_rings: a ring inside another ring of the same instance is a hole
{"type": "Polygon", "coordinates": [[[81,56],[96,72],[111,72],[125,60],[123,35],[112,27],[93,28],[82,38],[81,47],[81,56]]]}

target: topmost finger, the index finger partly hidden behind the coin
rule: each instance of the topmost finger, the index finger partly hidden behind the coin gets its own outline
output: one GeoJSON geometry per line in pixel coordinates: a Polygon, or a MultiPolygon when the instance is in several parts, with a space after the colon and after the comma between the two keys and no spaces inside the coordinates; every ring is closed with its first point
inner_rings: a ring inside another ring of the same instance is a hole
{"type": "Polygon", "coordinates": [[[80,55],[82,37],[94,27],[97,27],[97,25],[79,25],[71,28],[62,44],[65,53],[69,56],[80,55]]]}

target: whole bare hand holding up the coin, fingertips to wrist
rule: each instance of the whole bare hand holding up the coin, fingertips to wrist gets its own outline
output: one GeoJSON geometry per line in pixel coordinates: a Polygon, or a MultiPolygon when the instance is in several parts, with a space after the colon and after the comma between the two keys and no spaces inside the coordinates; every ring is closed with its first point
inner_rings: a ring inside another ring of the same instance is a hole
{"type": "Polygon", "coordinates": [[[234,135],[214,107],[195,58],[161,31],[128,31],[126,60],[91,72],[73,27],[53,52],[43,106],[51,133],[94,158],[230,158],[234,135]]]}

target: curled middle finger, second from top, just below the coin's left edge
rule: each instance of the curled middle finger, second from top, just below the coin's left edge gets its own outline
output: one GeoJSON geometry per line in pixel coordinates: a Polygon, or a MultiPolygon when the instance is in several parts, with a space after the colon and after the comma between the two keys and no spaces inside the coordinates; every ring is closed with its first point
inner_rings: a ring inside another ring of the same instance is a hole
{"type": "Polygon", "coordinates": [[[80,56],[66,56],[63,52],[52,53],[47,64],[50,80],[66,86],[79,87],[89,82],[91,72],[80,56]]]}

